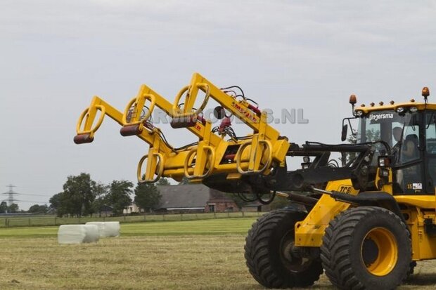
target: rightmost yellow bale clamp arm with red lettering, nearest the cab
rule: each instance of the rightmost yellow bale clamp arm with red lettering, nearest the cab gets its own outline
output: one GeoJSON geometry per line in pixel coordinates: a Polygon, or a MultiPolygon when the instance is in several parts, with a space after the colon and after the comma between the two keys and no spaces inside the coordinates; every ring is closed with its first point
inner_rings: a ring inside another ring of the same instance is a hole
{"type": "MultiPolygon", "coordinates": [[[[172,106],[174,119],[184,123],[186,128],[191,128],[193,126],[192,120],[199,118],[210,98],[217,101],[219,105],[222,105],[224,109],[241,119],[253,130],[252,136],[248,138],[247,142],[237,142],[239,148],[235,157],[235,169],[238,173],[241,175],[267,173],[274,161],[281,166],[284,165],[289,143],[286,138],[279,140],[278,131],[267,124],[267,113],[261,112],[245,99],[236,100],[198,73],[193,74],[191,84],[184,86],[177,94],[172,106]],[[193,106],[199,91],[203,91],[205,96],[200,107],[195,109],[193,106]],[[185,99],[181,107],[179,103],[184,94],[185,99]],[[248,154],[245,150],[248,151],[248,154]]],[[[223,140],[221,139],[220,142],[223,140]]],[[[218,146],[212,142],[212,147],[217,148],[218,146]]]]}

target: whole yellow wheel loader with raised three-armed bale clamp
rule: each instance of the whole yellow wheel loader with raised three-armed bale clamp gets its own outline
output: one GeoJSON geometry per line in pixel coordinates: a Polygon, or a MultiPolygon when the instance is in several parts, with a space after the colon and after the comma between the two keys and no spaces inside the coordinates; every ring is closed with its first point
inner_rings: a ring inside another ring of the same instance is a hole
{"type": "Polygon", "coordinates": [[[342,144],[297,145],[242,88],[218,87],[195,73],[173,102],[146,85],[123,111],[94,96],[74,141],[92,142],[107,115],[122,136],[148,143],[136,169],[141,183],[188,178],[247,201],[289,199],[246,237],[248,270],[267,288],[311,286],[324,272],[339,289],[395,289],[417,261],[436,258],[436,104],[428,103],[428,88],[422,95],[422,102],[359,107],[351,95],[342,144]],[[205,115],[211,100],[219,104],[213,113],[220,124],[205,115]],[[153,123],[154,110],[198,141],[169,144],[153,123]],[[235,133],[235,119],[248,134],[235,133]],[[344,143],[353,123],[354,142],[344,143]],[[288,170],[287,157],[302,158],[301,168],[288,170]]]}

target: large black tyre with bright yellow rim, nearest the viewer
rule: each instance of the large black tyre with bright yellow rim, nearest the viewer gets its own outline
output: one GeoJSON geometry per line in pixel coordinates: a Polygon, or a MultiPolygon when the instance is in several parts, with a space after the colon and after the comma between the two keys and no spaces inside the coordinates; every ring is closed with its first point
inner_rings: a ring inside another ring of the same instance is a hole
{"type": "Polygon", "coordinates": [[[328,225],[321,261],[340,289],[395,289],[411,270],[410,233],[387,209],[349,209],[328,225]]]}

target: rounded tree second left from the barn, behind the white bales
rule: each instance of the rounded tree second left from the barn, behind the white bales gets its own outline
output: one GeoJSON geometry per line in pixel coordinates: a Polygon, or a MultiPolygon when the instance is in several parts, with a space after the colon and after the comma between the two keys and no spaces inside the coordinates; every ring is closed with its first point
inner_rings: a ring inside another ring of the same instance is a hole
{"type": "Polygon", "coordinates": [[[133,183],[127,180],[113,180],[108,187],[108,195],[105,198],[108,205],[113,207],[115,215],[122,214],[123,209],[132,204],[133,183]]]}

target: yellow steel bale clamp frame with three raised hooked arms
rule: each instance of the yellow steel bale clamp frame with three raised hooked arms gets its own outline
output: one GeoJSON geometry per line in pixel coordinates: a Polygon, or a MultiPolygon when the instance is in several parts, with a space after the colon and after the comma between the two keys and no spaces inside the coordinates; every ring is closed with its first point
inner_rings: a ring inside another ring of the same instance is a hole
{"type": "Polygon", "coordinates": [[[101,98],[94,97],[91,105],[79,117],[77,134],[87,134],[94,138],[105,114],[123,127],[136,125],[139,132],[137,136],[150,145],[148,154],[144,155],[138,164],[137,175],[141,182],[155,182],[161,176],[176,180],[181,180],[185,176],[193,181],[201,181],[213,173],[227,173],[229,178],[238,178],[242,174],[268,173],[273,162],[284,166],[289,147],[288,140],[279,138],[278,131],[267,124],[266,112],[258,116],[246,100],[236,100],[227,95],[198,73],[193,74],[191,84],[182,88],[174,103],[169,103],[146,85],[142,85],[138,95],[127,103],[124,113],[101,98]],[[199,90],[205,92],[205,99],[198,110],[193,110],[199,90]],[[185,105],[179,108],[179,100],[184,93],[185,105]],[[224,140],[224,136],[212,133],[211,121],[207,120],[203,124],[199,119],[199,114],[205,109],[210,98],[247,124],[253,130],[252,135],[246,140],[224,140]],[[150,103],[148,112],[141,117],[146,102],[150,103]],[[184,150],[174,150],[165,143],[160,137],[160,128],[148,124],[148,118],[155,107],[159,107],[172,118],[193,116],[196,120],[195,125],[186,129],[198,137],[198,145],[184,150]],[[101,111],[101,115],[93,126],[98,110],[101,111]],[[229,145],[238,145],[238,153],[234,162],[221,164],[229,145]],[[142,174],[141,167],[145,161],[146,172],[142,174]]]}

